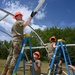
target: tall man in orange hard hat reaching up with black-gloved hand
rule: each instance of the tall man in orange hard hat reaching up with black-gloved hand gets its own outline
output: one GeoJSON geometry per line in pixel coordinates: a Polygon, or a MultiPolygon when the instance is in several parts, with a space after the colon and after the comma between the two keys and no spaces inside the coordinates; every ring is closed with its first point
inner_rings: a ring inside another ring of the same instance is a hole
{"type": "Polygon", "coordinates": [[[29,23],[31,22],[35,14],[36,12],[32,12],[26,22],[22,20],[23,14],[21,12],[16,12],[14,14],[14,19],[16,20],[16,22],[14,23],[11,29],[11,33],[13,34],[11,51],[7,57],[1,75],[12,75],[13,69],[16,64],[16,60],[19,56],[21,46],[22,46],[23,30],[27,25],[29,25],[29,23]]]}

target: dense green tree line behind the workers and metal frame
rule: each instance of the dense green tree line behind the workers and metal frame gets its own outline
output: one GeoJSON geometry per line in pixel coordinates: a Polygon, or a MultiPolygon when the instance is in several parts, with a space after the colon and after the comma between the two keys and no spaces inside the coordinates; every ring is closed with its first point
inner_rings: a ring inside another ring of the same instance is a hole
{"type": "MultiPolygon", "coordinates": [[[[37,29],[35,31],[39,34],[39,36],[44,41],[44,43],[49,42],[49,38],[54,35],[54,36],[56,36],[57,40],[58,39],[65,40],[66,44],[75,44],[75,28],[67,27],[67,28],[62,29],[62,28],[52,27],[52,28],[46,28],[44,30],[37,29]]],[[[30,39],[31,39],[32,46],[36,46],[36,47],[41,46],[41,41],[34,34],[34,32],[31,32],[30,35],[31,35],[30,39]]],[[[10,48],[11,42],[8,42],[5,40],[4,45],[7,48],[10,48]]],[[[0,59],[6,59],[9,54],[9,52],[7,51],[7,49],[4,45],[0,44],[0,59]]],[[[28,46],[28,43],[27,43],[27,46],[28,46]]],[[[74,63],[75,62],[75,46],[67,47],[67,48],[68,48],[71,60],[74,63]]],[[[46,61],[47,60],[46,50],[45,49],[35,49],[35,50],[33,50],[33,52],[36,50],[40,51],[41,60],[46,61]]],[[[30,59],[30,51],[26,50],[26,53],[30,59]]]]}

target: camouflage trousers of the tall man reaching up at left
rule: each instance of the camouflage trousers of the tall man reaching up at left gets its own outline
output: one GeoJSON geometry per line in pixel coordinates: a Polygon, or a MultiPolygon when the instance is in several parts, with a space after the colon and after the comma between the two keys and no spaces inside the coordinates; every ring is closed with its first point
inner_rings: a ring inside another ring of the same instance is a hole
{"type": "Polygon", "coordinates": [[[21,51],[21,46],[22,46],[22,39],[18,37],[14,37],[12,39],[12,46],[5,63],[5,67],[14,68],[17,58],[21,51]]]}

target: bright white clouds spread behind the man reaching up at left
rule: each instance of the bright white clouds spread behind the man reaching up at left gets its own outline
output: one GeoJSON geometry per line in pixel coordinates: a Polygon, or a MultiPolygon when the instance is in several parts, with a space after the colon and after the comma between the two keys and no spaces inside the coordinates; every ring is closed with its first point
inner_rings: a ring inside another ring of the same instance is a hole
{"type": "MultiPolygon", "coordinates": [[[[30,14],[32,12],[32,10],[29,9],[28,6],[22,5],[19,1],[15,1],[14,3],[13,2],[11,3],[11,1],[6,2],[5,0],[3,0],[3,5],[5,5],[4,9],[12,14],[14,14],[16,11],[21,11],[21,13],[23,14],[24,21],[26,21],[28,19],[28,17],[30,16],[30,14]]],[[[2,11],[0,11],[0,14],[1,14],[0,18],[2,18],[3,16],[6,15],[6,13],[4,13],[2,11]]],[[[39,11],[37,13],[35,19],[43,19],[44,17],[45,17],[45,13],[43,11],[39,11]]],[[[15,20],[10,15],[7,18],[5,18],[4,20],[0,21],[0,26],[2,26],[7,32],[10,32],[14,22],[15,22],[15,20]]],[[[35,24],[34,18],[32,19],[31,26],[34,29],[40,28],[41,30],[44,30],[46,28],[46,25],[41,25],[41,26],[40,25],[35,24]]],[[[31,29],[27,26],[24,31],[25,31],[25,33],[30,33],[31,29]]],[[[2,35],[0,37],[0,39],[3,40],[5,37],[6,37],[6,35],[2,35]]],[[[6,37],[6,40],[9,40],[9,38],[6,37]]]]}

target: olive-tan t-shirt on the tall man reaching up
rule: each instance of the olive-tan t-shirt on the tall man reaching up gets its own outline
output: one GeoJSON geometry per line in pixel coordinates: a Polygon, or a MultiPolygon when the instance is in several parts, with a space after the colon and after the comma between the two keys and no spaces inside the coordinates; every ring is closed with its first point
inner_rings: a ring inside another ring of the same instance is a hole
{"type": "Polygon", "coordinates": [[[22,20],[15,22],[15,24],[12,27],[12,32],[13,32],[14,36],[15,35],[23,35],[24,27],[22,26],[22,24],[23,24],[22,20]]]}

